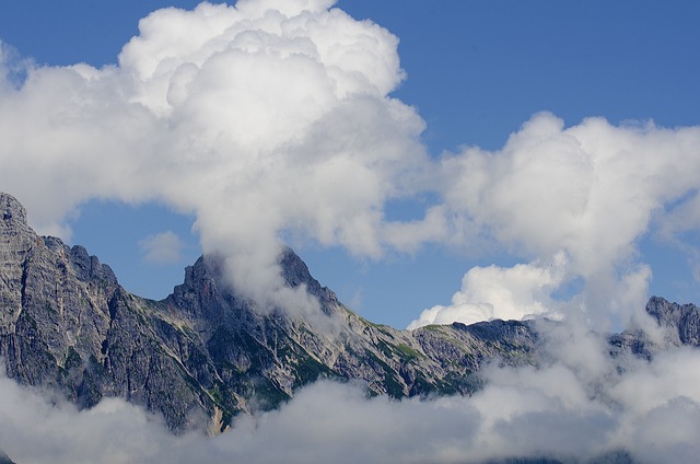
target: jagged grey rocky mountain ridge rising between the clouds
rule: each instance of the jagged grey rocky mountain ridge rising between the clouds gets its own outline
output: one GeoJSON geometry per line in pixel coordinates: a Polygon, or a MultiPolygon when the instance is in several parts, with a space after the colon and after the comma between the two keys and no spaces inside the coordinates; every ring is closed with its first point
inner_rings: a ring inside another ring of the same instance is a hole
{"type": "MultiPolygon", "coordinates": [[[[318,300],[315,322],[261,311],[241,298],[214,256],[187,267],[185,281],[165,300],[145,300],[122,289],[83,247],[36,235],[24,208],[5,194],[0,217],[0,358],[7,374],[80,407],[119,396],[162,415],[174,431],[217,432],[234,415],[277,407],[319,378],[362,380],[372,394],[394,397],[469,394],[480,387],[485,363],[538,362],[529,323],[412,332],[372,324],[320,286],[289,248],[280,256],[282,277],[318,300]]],[[[697,345],[697,308],[660,301],[650,313],[661,324],[676,324],[680,343],[697,345]]],[[[628,338],[611,344],[628,349],[634,337],[628,338]]]]}

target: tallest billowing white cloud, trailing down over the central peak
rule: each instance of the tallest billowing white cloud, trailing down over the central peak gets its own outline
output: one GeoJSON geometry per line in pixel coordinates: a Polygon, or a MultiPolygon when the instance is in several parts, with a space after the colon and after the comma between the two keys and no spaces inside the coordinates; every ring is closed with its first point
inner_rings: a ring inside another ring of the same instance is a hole
{"type": "Polygon", "coordinates": [[[160,10],[118,66],[28,67],[15,86],[5,59],[3,188],[62,236],[92,198],[194,212],[205,251],[231,258],[233,282],[264,306],[289,298],[277,294],[282,231],[373,257],[394,236],[410,246],[383,213],[427,164],[422,120],[388,96],[404,78],[398,40],[331,4],[160,10]]]}

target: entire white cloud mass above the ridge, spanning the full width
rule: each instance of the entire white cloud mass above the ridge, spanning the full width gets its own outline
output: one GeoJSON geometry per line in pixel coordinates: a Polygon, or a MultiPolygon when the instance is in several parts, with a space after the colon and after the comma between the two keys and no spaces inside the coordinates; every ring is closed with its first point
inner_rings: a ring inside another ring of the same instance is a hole
{"type": "Polygon", "coordinates": [[[541,113],[500,150],[431,158],[424,121],[392,96],[398,38],[332,5],[159,10],[100,69],[38,67],[0,46],[3,189],[65,239],[91,199],[194,213],[203,251],[262,309],[314,306],[283,288],[282,236],[371,259],[439,243],[520,260],[468,270],[452,303],[411,327],[582,311],[607,328],[643,308],[640,239],[655,228],[684,245],[700,224],[700,128],[565,127],[541,113]],[[435,198],[416,201],[419,219],[387,217],[388,202],[419,197],[435,198]]]}

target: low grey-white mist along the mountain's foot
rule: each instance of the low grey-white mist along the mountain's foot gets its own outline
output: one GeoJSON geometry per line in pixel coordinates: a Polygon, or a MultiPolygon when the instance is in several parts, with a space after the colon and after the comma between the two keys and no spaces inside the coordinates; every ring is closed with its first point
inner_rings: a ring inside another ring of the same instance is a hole
{"type": "Polygon", "coordinates": [[[369,397],[359,383],[319,381],[278,410],[238,416],[212,438],[173,436],[158,417],[117,398],[79,411],[3,378],[0,449],[20,463],[586,462],[600,456],[696,462],[698,350],[669,347],[651,361],[610,357],[606,337],[580,325],[541,328],[548,353],[542,366],[487,367],[485,388],[470,397],[395,401],[369,397]]]}

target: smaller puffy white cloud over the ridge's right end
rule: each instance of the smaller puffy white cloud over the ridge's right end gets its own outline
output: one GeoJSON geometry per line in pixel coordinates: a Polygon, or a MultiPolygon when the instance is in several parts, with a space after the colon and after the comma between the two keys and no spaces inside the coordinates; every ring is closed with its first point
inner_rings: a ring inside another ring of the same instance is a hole
{"type": "Polygon", "coordinates": [[[606,329],[625,326],[644,308],[652,276],[638,256],[640,239],[652,227],[675,237],[696,229],[687,212],[698,201],[699,143],[699,127],[590,118],[565,128],[542,113],[499,151],[466,148],[445,156],[442,192],[456,218],[453,236],[495,242],[532,260],[470,269],[451,305],[424,311],[411,326],[559,308],[583,310],[606,329]],[[584,282],[575,298],[552,301],[575,279],[584,282]]]}

